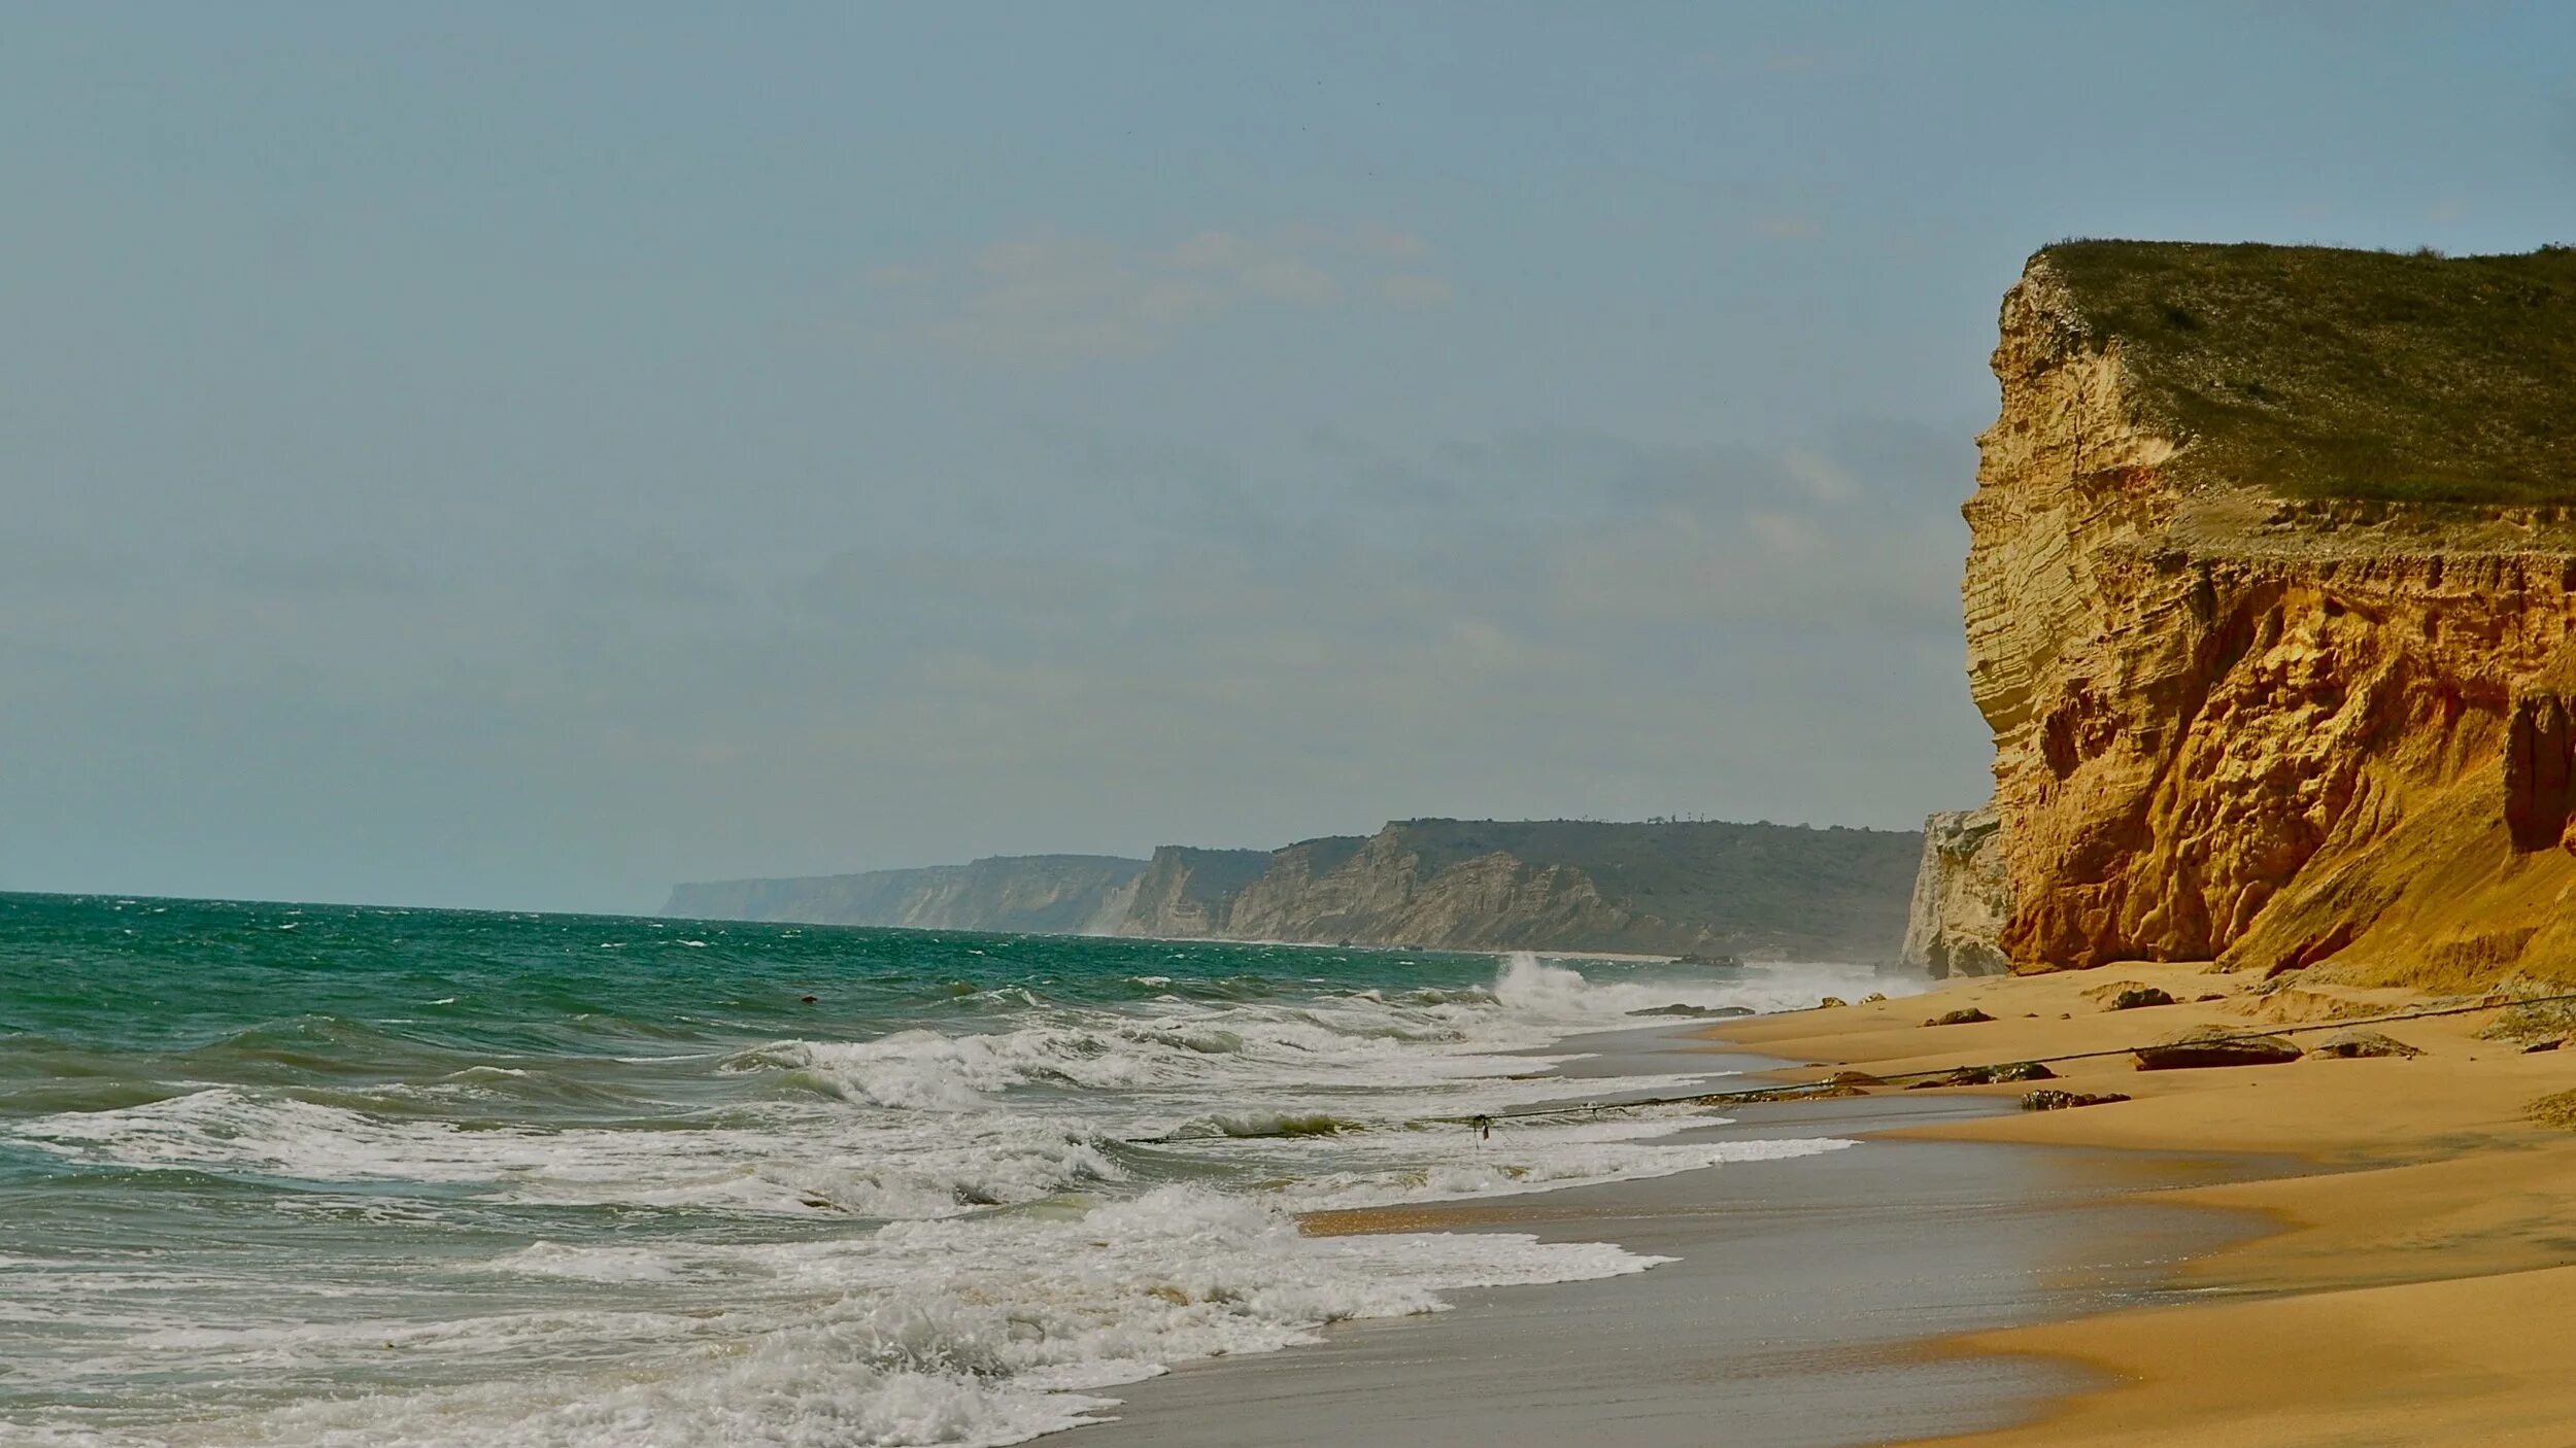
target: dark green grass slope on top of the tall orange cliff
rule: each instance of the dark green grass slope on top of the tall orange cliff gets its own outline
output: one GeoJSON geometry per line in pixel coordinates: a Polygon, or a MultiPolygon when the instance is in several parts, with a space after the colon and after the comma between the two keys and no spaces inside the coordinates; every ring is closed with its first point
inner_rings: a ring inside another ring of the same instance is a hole
{"type": "Polygon", "coordinates": [[[2285,497],[2576,502],[2576,247],[2061,242],[2182,469],[2285,497]]]}

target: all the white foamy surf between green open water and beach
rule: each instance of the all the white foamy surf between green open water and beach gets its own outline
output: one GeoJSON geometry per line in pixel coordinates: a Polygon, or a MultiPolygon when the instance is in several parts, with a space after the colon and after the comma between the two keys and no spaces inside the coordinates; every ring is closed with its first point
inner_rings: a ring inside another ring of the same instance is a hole
{"type": "MultiPolygon", "coordinates": [[[[1020,1443],[1172,1363],[1440,1311],[1461,1288],[1651,1268],[1602,1242],[1303,1237],[1296,1219],[1844,1149],[1710,1139],[1698,1129],[1721,1118],[1692,1108],[1504,1118],[1489,1136],[1461,1118],[1566,1100],[1553,1069],[1587,1033],[1638,1031],[1631,1010],[1875,984],[1535,956],[1486,982],[1376,987],[1136,966],[1090,1005],[979,987],[894,1031],[708,1025],[693,1031],[714,1049],[685,1056],[451,1054],[407,1080],[100,1087],[0,1121],[0,1149],[77,1180],[234,1183],[237,1211],[299,1226],[296,1260],[224,1260],[155,1293],[88,1268],[28,1268],[64,1291],[15,1293],[0,1262],[0,1301],[23,1304],[0,1306],[0,1353],[13,1311],[28,1342],[80,1342],[23,1353],[13,1391],[198,1384],[178,1438],[100,1427],[116,1445],[1020,1443]],[[420,1270],[366,1275],[402,1265],[384,1242],[433,1232],[420,1270]],[[301,1265],[343,1239],[374,1268],[301,1265]]],[[[309,1043],[247,1036],[227,1046],[309,1043]]]]}

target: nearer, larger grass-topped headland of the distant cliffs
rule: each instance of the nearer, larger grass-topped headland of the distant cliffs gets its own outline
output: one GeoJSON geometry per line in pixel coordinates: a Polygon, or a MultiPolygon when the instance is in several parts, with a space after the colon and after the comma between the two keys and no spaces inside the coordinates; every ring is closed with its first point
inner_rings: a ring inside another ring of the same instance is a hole
{"type": "Polygon", "coordinates": [[[1257,871],[1242,850],[1159,850],[1121,930],[1870,961],[1904,930],[1917,850],[1886,830],[1399,819],[1288,845],[1257,871]],[[1200,889],[1167,907],[1162,879],[1200,889]]]}

